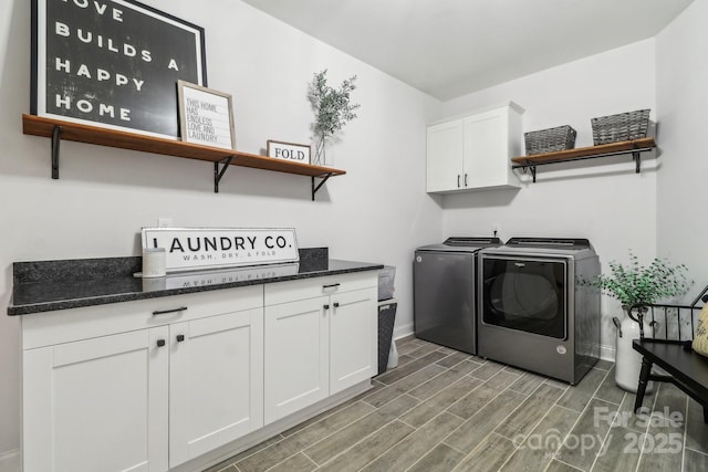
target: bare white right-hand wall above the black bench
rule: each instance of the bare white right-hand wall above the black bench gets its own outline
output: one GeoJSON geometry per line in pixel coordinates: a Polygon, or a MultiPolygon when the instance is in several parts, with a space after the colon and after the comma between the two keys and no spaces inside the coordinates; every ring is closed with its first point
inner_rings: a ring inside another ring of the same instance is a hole
{"type": "Polygon", "coordinates": [[[696,282],[690,301],[708,284],[708,0],[694,1],[656,36],[656,96],[662,116],[657,186],[658,254],[683,261],[696,282]]]}

